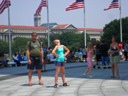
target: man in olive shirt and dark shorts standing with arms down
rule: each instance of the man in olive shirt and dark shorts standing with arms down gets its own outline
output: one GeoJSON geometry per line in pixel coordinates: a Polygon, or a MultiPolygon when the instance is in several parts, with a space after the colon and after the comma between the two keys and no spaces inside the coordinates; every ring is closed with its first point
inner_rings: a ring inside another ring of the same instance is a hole
{"type": "Polygon", "coordinates": [[[27,43],[27,58],[28,58],[28,79],[29,86],[32,86],[32,72],[36,68],[38,73],[39,85],[43,85],[41,77],[41,69],[43,63],[43,51],[41,48],[41,43],[37,39],[37,33],[32,32],[32,40],[27,43]]]}

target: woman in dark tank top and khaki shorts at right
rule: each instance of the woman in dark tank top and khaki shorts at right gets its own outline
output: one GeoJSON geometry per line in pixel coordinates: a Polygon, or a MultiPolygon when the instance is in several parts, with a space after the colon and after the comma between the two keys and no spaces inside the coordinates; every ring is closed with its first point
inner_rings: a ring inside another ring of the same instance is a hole
{"type": "Polygon", "coordinates": [[[112,37],[112,43],[110,44],[109,54],[110,54],[110,62],[112,64],[112,76],[111,78],[115,78],[114,72],[116,70],[116,78],[119,78],[119,69],[118,63],[120,62],[119,56],[119,44],[116,42],[115,37],[112,37]]]}

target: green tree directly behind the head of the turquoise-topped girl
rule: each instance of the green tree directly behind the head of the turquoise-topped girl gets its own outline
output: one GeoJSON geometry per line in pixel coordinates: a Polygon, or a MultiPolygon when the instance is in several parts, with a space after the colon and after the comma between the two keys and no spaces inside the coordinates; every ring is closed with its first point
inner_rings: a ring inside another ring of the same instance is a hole
{"type": "MultiPolygon", "coordinates": [[[[52,34],[50,36],[51,41],[55,39],[59,39],[61,44],[67,46],[68,48],[78,48],[84,47],[84,34],[76,34],[74,32],[63,32],[62,34],[52,34]]],[[[87,42],[90,41],[89,35],[87,34],[87,42]]],[[[54,46],[53,42],[51,42],[52,47],[54,46]]]]}

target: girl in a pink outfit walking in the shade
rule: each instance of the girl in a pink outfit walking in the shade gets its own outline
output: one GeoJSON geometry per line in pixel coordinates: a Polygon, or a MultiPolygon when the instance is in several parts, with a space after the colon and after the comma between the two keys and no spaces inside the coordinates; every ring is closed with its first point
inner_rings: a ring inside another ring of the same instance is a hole
{"type": "Polygon", "coordinates": [[[86,52],[87,52],[87,65],[88,65],[88,67],[87,67],[87,69],[83,75],[86,76],[86,74],[89,72],[89,74],[90,74],[89,77],[92,78],[92,54],[93,54],[93,50],[92,50],[91,44],[87,45],[86,52]]]}

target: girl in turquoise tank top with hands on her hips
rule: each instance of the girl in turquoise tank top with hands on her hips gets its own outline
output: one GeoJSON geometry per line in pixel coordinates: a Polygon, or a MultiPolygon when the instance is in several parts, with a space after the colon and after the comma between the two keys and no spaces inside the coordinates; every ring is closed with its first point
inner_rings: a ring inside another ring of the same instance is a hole
{"type": "Polygon", "coordinates": [[[54,87],[58,87],[58,75],[61,71],[63,86],[68,86],[65,80],[65,66],[64,66],[64,58],[67,56],[70,52],[70,50],[64,46],[60,45],[60,40],[56,39],[54,40],[55,48],[53,49],[52,53],[56,57],[56,73],[55,73],[55,85],[54,87]],[[64,50],[66,51],[64,53],[64,50]]]}

